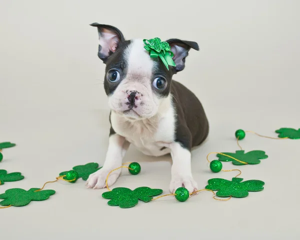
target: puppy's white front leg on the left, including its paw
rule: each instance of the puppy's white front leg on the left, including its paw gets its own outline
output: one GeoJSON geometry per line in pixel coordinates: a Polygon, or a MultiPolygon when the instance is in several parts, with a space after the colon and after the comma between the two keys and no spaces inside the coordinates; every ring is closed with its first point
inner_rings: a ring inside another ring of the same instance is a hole
{"type": "MultiPolygon", "coordinates": [[[[87,188],[104,188],[107,174],[114,168],[121,166],[123,157],[129,147],[129,142],[124,137],[113,134],[109,137],[109,144],[104,165],[98,171],[89,175],[86,185],[87,188]]],[[[111,186],[121,173],[121,169],[113,171],[108,178],[107,184],[111,186]]]]}

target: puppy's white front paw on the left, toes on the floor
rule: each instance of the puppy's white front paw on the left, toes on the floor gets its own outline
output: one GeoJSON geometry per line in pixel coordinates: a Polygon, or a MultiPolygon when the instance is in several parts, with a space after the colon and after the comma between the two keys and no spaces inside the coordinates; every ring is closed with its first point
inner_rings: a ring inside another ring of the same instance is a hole
{"type": "MultiPolygon", "coordinates": [[[[98,171],[90,174],[88,176],[88,179],[86,180],[86,186],[87,188],[104,188],[106,186],[105,181],[107,174],[111,171],[112,169],[99,169],[98,171]]],[[[113,183],[115,183],[116,179],[121,173],[121,169],[113,171],[109,177],[107,184],[108,186],[111,186],[113,183]]]]}

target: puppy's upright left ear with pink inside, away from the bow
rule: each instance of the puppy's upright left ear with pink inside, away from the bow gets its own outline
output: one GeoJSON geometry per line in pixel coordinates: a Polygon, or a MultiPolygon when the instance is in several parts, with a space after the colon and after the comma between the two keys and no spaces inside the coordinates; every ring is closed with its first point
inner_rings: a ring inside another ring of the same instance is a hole
{"type": "Polygon", "coordinates": [[[98,29],[98,57],[105,63],[107,58],[117,50],[119,44],[124,41],[123,34],[117,28],[109,25],[93,23],[90,26],[98,29]]]}

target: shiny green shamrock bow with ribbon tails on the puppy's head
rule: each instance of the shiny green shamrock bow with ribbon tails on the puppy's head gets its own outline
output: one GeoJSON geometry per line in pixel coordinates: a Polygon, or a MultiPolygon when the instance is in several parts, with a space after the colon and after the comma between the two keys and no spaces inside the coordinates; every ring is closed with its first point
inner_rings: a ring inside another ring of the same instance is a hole
{"type": "Polygon", "coordinates": [[[174,54],[170,51],[171,47],[167,42],[161,42],[159,38],[150,40],[143,40],[145,46],[144,49],[150,53],[151,58],[160,58],[166,69],[168,65],[176,67],[172,57],[174,54]]]}

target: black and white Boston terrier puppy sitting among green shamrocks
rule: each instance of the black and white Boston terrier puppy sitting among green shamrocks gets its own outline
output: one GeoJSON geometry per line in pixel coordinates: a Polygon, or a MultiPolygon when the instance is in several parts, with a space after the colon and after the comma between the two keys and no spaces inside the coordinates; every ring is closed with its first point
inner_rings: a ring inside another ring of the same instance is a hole
{"type": "MultiPolygon", "coordinates": [[[[191,149],[208,135],[208,121],[197,97],[172,80],[184,69],[185,58],[197,43],[170,39],[175,67],[151,58],[143,40],[125,40],[115,27],[93,23],[98,30],[98,57],[106,64],[104,90],[111,109],[109,145],[103,167],[90,174],[88,188],[104,188],[107,174],[122,165],[130,144],[146,155],[172,158],[169,190],[197,190],[191,174],[191,149]]],[[[108,186],[118,178],[113,171],[108,186]]]]}

